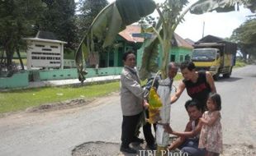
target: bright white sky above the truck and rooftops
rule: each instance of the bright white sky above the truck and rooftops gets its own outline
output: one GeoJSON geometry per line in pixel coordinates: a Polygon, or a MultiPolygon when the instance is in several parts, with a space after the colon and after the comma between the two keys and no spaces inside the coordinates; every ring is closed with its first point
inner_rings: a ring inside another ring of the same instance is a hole
{"type": "MultiPolygon", "coordinates": [[[[108,0],[114,2],[115,0],[108,0]]],[[[154,0],[155,2],[164,2],[164,0],[154,0]]],[[[196,0],[189,0],[189,5],[196,0]]],[[[183,39],[192,39],[197,41],[202,38],[203,23],[205,23],[204,36],[211,34],[220,38],[230,37],[233,30],[239,27],[244,21],[246,16],[252,15],[249,9],[239,7],[239,11],[230,11],[225,13],[208,12],[202,15],[193,15],[189,12],[184,17],[185,21],[178,25],[175,32],[183,39]]],[[[158,16],[155,11],[153,16],[158,16]]]]}

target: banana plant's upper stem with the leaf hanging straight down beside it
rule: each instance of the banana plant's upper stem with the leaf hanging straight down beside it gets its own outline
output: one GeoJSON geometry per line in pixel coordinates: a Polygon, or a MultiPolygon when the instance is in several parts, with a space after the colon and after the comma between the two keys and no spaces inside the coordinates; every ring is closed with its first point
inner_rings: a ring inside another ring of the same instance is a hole
{"type": "Polygon", "coordinates": [[[168,53],[172,48],[172,39],[177,25],[183,21],[183,16],[189,11],[183,13],[183,7],[187,5],[187,0],[167,0],[162,4],[157,4],[156,10],[159,13],[159,22],[151,30],[154,33],[152,39],[145,39],[143,47],[145,48],[142,57],[142,67],[140,68],[140,77],[145,79],[151,71],[156,71],[158,66],[155,61],[161,56],[160,71],[163,78],[167,77],[167,67],[169,62],[168,53]],[[162,52],[159,55],[159,50],[162,52]]]}

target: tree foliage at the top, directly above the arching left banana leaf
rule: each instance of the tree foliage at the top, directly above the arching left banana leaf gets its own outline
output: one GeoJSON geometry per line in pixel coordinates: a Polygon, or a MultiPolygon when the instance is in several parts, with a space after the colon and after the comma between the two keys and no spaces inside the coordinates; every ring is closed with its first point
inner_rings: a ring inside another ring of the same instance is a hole
{"type": "Polygon", "coordinates": [[[80,0],[78,2],[78,35],[79,39],[83,39],[83,35],[88,31],[89,26],[92,24],[93,19],[97,14],[107,6],[107,0],[80,0]]]}

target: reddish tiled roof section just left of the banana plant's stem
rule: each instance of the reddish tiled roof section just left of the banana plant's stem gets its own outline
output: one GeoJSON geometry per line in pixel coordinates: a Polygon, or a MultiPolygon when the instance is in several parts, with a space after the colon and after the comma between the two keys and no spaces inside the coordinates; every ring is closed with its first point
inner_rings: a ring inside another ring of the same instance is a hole
{"type": "Polygon", "coordinates": [[[129,42],[134,43],[143,43],[144,38],[138,38],[138,37],[132,37],[132,34],[134,33],[140,33],[140,25],[127,25],[126,30],[122,30],[119,35],[121,35],[122,38],[126,39],[129,42]]]}

